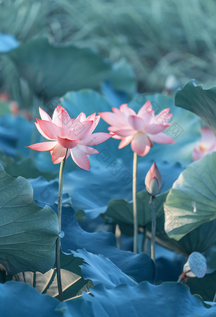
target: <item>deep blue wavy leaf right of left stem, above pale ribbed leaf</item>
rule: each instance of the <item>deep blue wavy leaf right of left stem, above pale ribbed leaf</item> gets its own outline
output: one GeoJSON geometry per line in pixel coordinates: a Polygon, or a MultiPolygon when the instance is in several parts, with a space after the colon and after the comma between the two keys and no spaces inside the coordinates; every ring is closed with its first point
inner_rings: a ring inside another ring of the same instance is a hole
{"type": "Polygon", "coordinates": [[[155,266],[152,260],[143,252],[134,254],[119,250],[116,238],[110,232],[86,232],[76,221],[73,209],[68,206],[62,211],[62,249],[77,250],[85,248],[88,252],[102,254],[110,259],[125,274],[132,276],[136,281],[154,281],[155,266]]]}

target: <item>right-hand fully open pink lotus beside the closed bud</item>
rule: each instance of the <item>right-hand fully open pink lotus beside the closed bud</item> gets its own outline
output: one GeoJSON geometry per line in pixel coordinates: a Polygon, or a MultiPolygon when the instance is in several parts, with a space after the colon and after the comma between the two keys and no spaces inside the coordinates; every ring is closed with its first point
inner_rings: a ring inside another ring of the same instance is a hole
{"type": "Polygon", "coordinates": [[[111,126],[108,127],[110,133],[115,133],[114,139],[121,139],[119,149],[131,143],[132,151],[140,156],[146,155],[153,142],[160,144],[175,143],[175,141],[165,133],[162,133],[170,123],[172,113],[168,113],[170,108],[162,110],[158,115],[154,115],[151,103],[148,100],[136,114],[135,111],[123,104],[120,108],[112,108],[113,112],[101,112],[101,118],[111,126]]]}

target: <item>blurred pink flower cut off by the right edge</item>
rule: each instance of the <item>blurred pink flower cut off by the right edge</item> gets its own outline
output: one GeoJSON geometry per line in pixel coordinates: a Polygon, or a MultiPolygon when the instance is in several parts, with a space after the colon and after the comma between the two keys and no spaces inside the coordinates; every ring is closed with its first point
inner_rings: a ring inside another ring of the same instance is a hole
{"type": "Polygon", "coordinates": [[[201,141],[193,148],[193,160],[197,161],[204,155],[216,151],[216,136],[207,126],[201,128],[201,141]]]}

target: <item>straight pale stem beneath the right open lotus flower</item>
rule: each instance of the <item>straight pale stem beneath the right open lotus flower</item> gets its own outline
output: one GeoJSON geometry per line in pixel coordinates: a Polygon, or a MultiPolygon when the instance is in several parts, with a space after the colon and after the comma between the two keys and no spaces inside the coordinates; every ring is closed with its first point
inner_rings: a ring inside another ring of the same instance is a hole
{"type": "Polygon", "coordinates": [[[133,217],[134,217],[134,253],[138,251],[138,219],[136,204],[136,176],[137,176],[137,154],[134,152],[133,163],[133,217]]]}

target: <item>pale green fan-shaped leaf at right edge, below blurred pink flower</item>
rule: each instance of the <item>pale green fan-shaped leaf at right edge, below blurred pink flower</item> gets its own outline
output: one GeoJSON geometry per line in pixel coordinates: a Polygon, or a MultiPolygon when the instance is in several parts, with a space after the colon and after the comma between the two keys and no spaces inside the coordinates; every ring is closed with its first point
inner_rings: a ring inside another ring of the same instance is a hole
{"type": "Polygon", "coordinates": [[[164,204],[165,231],[179,240],[216,219],[216,153],[189,165],[173,184],[164,204]]]}

